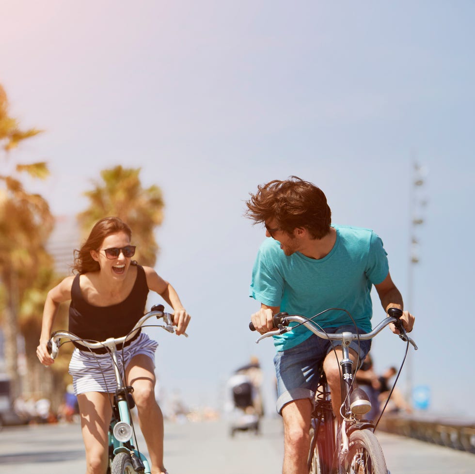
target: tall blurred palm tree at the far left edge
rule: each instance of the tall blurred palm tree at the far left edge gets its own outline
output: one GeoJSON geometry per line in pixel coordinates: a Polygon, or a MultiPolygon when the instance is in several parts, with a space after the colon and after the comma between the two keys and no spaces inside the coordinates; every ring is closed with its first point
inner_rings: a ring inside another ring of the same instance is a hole
{"type": "Polygon", "coordinates": [[[0,145],[4,154],[0,174],[0,283],[5,295],[2,313],[6,372],[14,397],[20,393],[18,308],[38,270],[43,265],[51,265],[45,243],[53,228],[53,217],[46,200],[24,190],[20,181],[21,173],[45,178],[48,175],[46,163],[16,164],[10,153],[20,142],[38,133],[40,130],[35,128],[21,130],[17,120],[10,117],[7,97],[0,86],[0,145]]]}

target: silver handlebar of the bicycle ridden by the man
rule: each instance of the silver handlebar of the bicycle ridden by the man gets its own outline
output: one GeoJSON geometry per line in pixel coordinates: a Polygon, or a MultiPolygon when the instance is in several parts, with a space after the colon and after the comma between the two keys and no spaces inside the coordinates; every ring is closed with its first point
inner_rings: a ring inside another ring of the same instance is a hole
{"type": "MultiPolygon", "coordinates": [[[[381,332],[388,324],[394,323],[396,328],[400,331],[399,338],[402,339],[404,342],[410,342],[415,350],[417,350],[417,346],[415,342],[407,335],[404,326],[400,320],[402,316],[402,311],[399,308],[389,308],[388,309],[389,317],[383,319],[378,326],[376,326],[373,331],[368,332],[366,334],[357,334],[352,332],[336,332],[332,334],[327,334],[326,332],[320,331],[317,329],[316,323],[308,317],[300,316],[300,315],[289,315],[287,313],[277,313],[273,316],[273,324],[274,327],[277,328],[276,331],[269,331],[262,334],[256,341],[256,344],[262,339],[266,337],[276,336],[279,334],[284,334],[285,332],[291,331],[292,327],[288,327],[290,322],[297,322],[305,326],[308,330],[313,332],[316,336],[321,337],[322,339],[328,339],[331,341],[342,341],[344,338],[347,339],[350,337],[351,339],[359,339],[361,341],[366,341],[368,339],[372,339],[376,334],[381,332]]],[[[251,331],[255,331],[253,323],[249,323],[249,329],[251,331]]]]}

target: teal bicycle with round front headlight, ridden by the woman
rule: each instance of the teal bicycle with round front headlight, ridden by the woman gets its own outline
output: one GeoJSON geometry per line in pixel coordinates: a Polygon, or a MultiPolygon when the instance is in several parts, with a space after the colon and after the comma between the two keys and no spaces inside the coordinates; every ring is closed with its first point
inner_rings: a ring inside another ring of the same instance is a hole
{"type": "MultiPolygon", "coordinates": [[[[163,305],[155,305],[152,310],[142,316],[126,336],[109,338],[105,341],[91,341],[81,339],[69,331],[56,331],[51,334],[48,341],[48,352],[53,359],[56,358],[59,348],[66,342],[75,342],[87,349],[106,348],[111,356],[116,387],[112,404],[112,418],[109,427],[109,467],[108,474],[150,474],[150,464],[143,453],[136,447],[137,437],[132,421],[131,410],[135,403],[133,400],[133,387],[124,383],[123,374],[119,370],[117,346],[124,347],[124,344],[138,335],[144,327],[144,323],[151,317],[163,319],[163,325],[153,324],[153,327],[165,329],[167,332],[175,332],[173,325],[173,315],[163,312],[163,305]]],[[[186,337],[188,335],[184,334],[186,337]]]]}

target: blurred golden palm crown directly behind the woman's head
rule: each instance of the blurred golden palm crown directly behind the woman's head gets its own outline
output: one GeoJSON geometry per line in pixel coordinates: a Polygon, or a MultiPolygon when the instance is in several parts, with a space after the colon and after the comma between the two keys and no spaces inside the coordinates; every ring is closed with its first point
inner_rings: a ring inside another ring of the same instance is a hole
{"type": "Polygon", "coordinates": [[[143,189],[139,178],[140,168],[116,166],[101,171],[103,182],[93,182],[95,189],[85,192],[89,207],[79,214],[79,225],[84,236],[89,234],[96,221],[117,216],[127,222],[137,245],[135,258],[141,265],[153,267],[158,253],[154,228],[163,220],[163,199],[158,186],[143,189]]]}

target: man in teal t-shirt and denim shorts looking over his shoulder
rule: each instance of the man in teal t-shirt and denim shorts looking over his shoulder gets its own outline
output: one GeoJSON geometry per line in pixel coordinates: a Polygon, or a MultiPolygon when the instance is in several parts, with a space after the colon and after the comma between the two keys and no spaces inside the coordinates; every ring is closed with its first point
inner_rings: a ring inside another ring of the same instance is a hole
{"type": "MultiPolygon", "coordinates": [[[[403,308],[391,280],[381,239],[371,230],[331,225],[325,194],[312,183],[291,176],[259,186],[246,202],[246,215],[266,227],[266,239],[257,254],[250,296],[261,303],[251,319],[261,334],[271,331],[272,315],[285,311],[312,317],[328,308],[347,310],[360,332],[371,330],[370,291],[374,284],[384,310],[403,308]]],[[[327,332],[355,331],[344,311],[332,310],[315,320],[327,332]]],[[[405,329],[414,317],[405,311],[405,329]]],[[[398,333],[392,325],[392,331],[398,333]]],[[[333,344],[340,344],[333,342],[333,344]]],[[[284,474],[306,473],[309,424],[323,366],[337,416],[340,375],[331,343],[304,326],[274,337],[277,411],[284,421],[284,474]]],[[[371,343],[350,345],[350,357],[360,361],[371,343]],[[359,354],[357,353],[359,349],[359,354]]],[[[337,348],[341,360],[341,348],[337,348]]]]}

